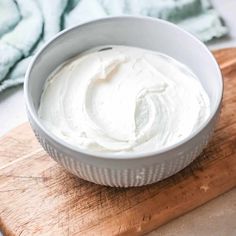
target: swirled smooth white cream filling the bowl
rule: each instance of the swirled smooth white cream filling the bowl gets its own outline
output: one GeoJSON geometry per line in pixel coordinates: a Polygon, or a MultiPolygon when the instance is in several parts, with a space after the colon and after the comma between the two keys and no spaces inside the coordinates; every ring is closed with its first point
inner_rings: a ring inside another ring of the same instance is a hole
{"type": "Polygon", "coordinates": [[[38,114],[64,141],[90,151],[146,152],[175,144],[209,116],[209,98],[175,59],[125,46],[89,50],[47,79],[38,114]]]}

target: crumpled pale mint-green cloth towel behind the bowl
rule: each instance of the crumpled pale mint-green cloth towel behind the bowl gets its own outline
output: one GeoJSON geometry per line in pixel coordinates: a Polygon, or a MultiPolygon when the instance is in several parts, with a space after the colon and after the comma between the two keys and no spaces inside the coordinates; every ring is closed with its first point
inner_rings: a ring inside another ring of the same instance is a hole
{"type": "Polygon", "coordinates": [[[122,14],[174,22],[204,42],[227,33],[209,0],[1,0],[0,92],[23,83],[34,53],[60,30],[122,14]]]}

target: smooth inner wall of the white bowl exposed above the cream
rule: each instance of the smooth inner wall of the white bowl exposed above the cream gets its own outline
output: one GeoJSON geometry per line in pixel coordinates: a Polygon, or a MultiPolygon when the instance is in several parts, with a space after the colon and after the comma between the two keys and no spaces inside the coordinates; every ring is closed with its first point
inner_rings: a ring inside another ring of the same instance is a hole
{"type": "Polygon", "coordinates": [[[217,110],[222,96],[222,79],[217,63],[204,44],[162,20],[112,17],[66,30],[37,54],[25,85],[28,104],[35,116],[44,82],[57,66],[92,47],[109,44],[159,51],[186,64],[198,76],[208,93],[212,113],[217,110]]]}

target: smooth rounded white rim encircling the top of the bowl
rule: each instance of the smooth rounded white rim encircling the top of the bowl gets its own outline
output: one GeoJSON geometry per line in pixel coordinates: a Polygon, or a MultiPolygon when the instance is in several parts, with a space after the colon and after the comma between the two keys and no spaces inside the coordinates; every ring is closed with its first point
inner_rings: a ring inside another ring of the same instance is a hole
{"type": "Polygon", "coordinates": [[[186,30],[180,28],[179,26],[168,22],[166,20],[162,20],[162,19],[158,19],[158,18],[153,18],[153,17],[149,17],[149,16],[107,16],[107,17],[103,17],[103,18],[99,18],[99,19],[95,19],[95,20],[90,20],[90,21],[86,21],[84,23],[81,24],[77,24],[71,28],[65,29],[60,31],[58,34],[56,34],[54,37],[52,37],[51,40],[49,40],[35,55],[34,58],[32,59],[32,61],[30,62],[26,74],[25,74],[25,82],[24,82],[24,100],[25,100],[25,104],[26,104],[26,108],[31,116],[31,118],[33,119],[33,121],[36,123],[36,125],[41,129],[41,131],[43,131],[43,133],[51,140],[53,140],[53,142],[56,142],[57,145],[61,145],[64,148],[67,148],[67,150],[73,151],[75,153],[82,153],[86,156],[92,156],[95,158],[99,158],[99,159],[114,159],[114,160],[119,160],[119,159],[125,159],[125,160],[129,160],[129,159],[140,159],[140,158],[145,158],[145,157],[150,157],[150,156],[157,156],[160,154],[164,154],[167,153],[169,151],[173,151],[176,148],[179,148],[180,146],[186,144],[187,142],[191,141],[192,139],[194,139],[199,133],[201,133],[207,126],[208,124],[212,121],[212,119],[214,118],[214,116],[216,115],[222,99],[223,99],[223,90],[224,90],[224,83],[223,83],[223,75],[222,72],[220,70],[220,67],[215,59],[215,57],[213,56],[213,54],[211,53],[211,51],[207,48],[207,46],[201,42],[198,38],[196,38],[194,35],[192,35],[191,33],[187,32],[186,30]],[[194,40],[196,43],[198,43],[203,50],[205,50],[205,52],[207,53],[207,55],[209,56],[209,59],[212,60],[212,62],[215,65],[215,69],[216,72],[218,74],[218,79],[219,79],[219,96],[217,96],[217,101],[216,101],[216,105],[213,107],[213,110],[211,111],[210,116],[207,118],[207,120],[205,120],[194,132],[192,132],[189,136],[185,137],[184,139],[180,140],[177,143],[174,143],[170,146],[164,147],[164,148],[160,148],[157,150],[151,150],[151,151],[145,151],[145,152],[137,152],[137,153],[133,153],[133,152],[95,152],[95,151],[90,151],[90,150],[85,150],[82,149],[80,147],[77,147],[75,145],[71,145],[70,143],[64,141],[61,138],[58,138],[57,136],[55,136],[53,133],[51,133],[48,129],[46,129],[46,127],[41,123],[38,115],[36,114],[35,109],[33,108],[33,103],[32,100],[30,99],[29,96],[29,80],[30,80],[30,74],[31,71],[35,65],[35,62],[37,62],[38,57],[44,53],[45,50],[47,50],[47,48],[53,44],[54,40],[60,38],[62,35],[67,34],[71,31],[76,30],[77,28],[81,27],[81,26],[86,26],[86,25],[90,25],[90,24],[94,24],[94,23],[101,23],[101,22],[105,22],[105,21],[120,21],[120,20],[143,20],[143,21],[150,21],[150,22],[159,22],[161,24],[166,24],[169,25],[170,27],[175,28],[176,30],[180,31],[181,33],[187,35],[188,37],[190,37],[192,40],[194,40]]]}

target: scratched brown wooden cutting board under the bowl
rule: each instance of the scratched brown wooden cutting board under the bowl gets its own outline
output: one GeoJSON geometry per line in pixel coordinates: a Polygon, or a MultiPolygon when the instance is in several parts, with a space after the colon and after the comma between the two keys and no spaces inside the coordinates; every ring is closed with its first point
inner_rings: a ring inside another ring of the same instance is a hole
{"type": "Polygon", "coordinates": [[[234,188],[236,49],[214,54],[225,78],[223,109],[194,163],[145,187],[99,186],[51,160],[23,124],[0,140],[0,229],[22,236],[141,235],[234,188]]]}

